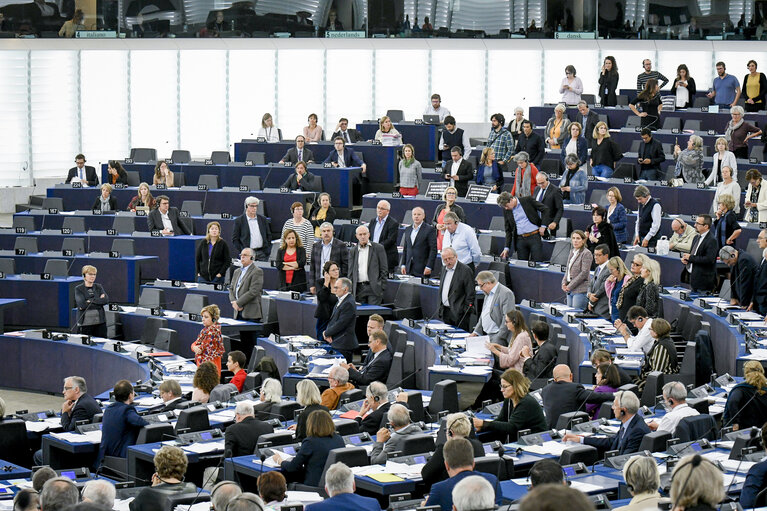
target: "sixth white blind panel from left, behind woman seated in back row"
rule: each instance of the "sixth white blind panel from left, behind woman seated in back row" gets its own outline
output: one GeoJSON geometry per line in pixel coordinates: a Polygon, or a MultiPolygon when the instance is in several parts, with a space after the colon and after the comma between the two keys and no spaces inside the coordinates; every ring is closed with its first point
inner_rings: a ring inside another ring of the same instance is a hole
{"type": "Polygon", "coordinates": [[[256,138],[265,113],[272,114],[282,136],[292,138],[275,111],[274,50],[229,52],[229,140],[256,138]]]}

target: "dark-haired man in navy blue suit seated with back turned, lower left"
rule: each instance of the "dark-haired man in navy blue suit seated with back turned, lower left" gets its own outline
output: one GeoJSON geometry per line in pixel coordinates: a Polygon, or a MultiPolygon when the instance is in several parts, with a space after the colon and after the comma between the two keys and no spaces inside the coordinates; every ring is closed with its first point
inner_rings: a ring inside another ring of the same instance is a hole
{"type": "Polygon", "coordinates": [[[135,398],[133,385],[128,380],[120,380],[115,384],[115,402],[104,409],[104,418],[101,420],[99,464],[104,462],[105,456],[127,457],[128,447],[136,445],[139,431],[149,424],[139,417],[133,405],[135,398]]]}

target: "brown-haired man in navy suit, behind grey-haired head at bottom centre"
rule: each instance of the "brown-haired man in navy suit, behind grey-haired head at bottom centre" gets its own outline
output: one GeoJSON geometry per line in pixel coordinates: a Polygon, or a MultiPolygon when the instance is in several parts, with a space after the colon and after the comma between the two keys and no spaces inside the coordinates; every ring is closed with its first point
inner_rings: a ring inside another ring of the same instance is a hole
{"type": "MultiPolygon", "coordinates": [[[[465,438],[451,438],[445,442],[443,454],[445,468],[447,468],[447,474],[450,477],[432,485],[426,499],[426,506],[439,506],[441,511],[451,511],[453,509],[453,494],[460,493],[454,492],[453,489],[461,481],[471,476],[482,477],[490,483],[491,487],[495,489],[495,505],[501,504],[503,497],[498,485],[498,478],[492,474],[474,470],[474,447],[471,442],[465,438]]],[[[474,495],[472,497],[476,498],[474,495]]],[[[490,506],[489,509],[493,509],[493,506],[490,506]]]]}

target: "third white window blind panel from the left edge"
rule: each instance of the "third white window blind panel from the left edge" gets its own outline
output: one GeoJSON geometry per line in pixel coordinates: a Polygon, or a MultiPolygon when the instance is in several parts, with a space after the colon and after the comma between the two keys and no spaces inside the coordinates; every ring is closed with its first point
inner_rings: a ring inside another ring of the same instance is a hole
{"type": "Polygon", "coordinates": [[[129,154],[127,51],[80,53],[83,152],[91,162],[129,154]]]}

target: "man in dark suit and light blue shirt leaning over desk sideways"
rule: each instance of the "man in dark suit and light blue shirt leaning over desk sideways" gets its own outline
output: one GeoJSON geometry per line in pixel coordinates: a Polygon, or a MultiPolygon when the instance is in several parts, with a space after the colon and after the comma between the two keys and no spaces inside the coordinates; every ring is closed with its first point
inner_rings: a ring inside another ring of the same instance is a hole
{"type": "Polygon", "coordinates": [[[514,246],[518,259],[543,261],[541,234],[546,228],[541,225],[541,216],[546,215],[549,208],[532,197],[519,199],[509,192],[501,192],[498,205],[503,209],[506,227],[506,248],[501,257],[513,253],[511,247],[514,246]]]}

